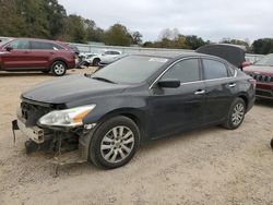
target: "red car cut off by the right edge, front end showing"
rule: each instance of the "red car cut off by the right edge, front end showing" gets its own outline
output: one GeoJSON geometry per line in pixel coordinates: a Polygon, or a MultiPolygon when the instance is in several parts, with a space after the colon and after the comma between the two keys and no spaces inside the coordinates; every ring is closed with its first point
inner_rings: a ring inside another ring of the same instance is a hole
{"type": "Polygon", "coordinates": [[[244,71],[257,81],[257,97],[273,99],[273,53],[245,68],[244,71]]]}

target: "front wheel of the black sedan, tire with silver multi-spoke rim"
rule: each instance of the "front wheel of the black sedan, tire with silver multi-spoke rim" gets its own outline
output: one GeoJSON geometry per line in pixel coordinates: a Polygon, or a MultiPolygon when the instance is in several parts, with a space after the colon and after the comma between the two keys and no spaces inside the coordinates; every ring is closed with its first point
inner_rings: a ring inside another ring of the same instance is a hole
{"type": "Polygon", "coordinates": [[[114,117],[105,122],[103,122],[94,132],[92,140],[91,140],[91,144],[90,144],[90,150],[88,150],[88,155],[90,155],[90,160],[96,165],[97,167],[104,168],[104,169],[115,169],[118,167],[121,167],[126,164],[128,164],[131,158],[134,156],[138,147],[140,144],[140,131],[138,125],[129,118],[127,117],[114,117]],[[119,138],[120,144],[117,145],[117,141],[114,137],[114,129],[121,129],[121,126],[124,129],[122,129],[122,131],[120,130],[116,130],[116,136],[120,137],[120,132],[122,133],[122,136],[119,138]],[[124,132],[126,131],[126,132],[124,132]],[[131,132],[130,132],[131,131],[131,132]],[[119,132],[119,134],[117,134],[119,132]],[[112,134],[110,136],[110,133],[112,134]],[[124,134],[126,133],[126,134],[124,134]],[[126,137],[128,134],[132,133],[132,135],[126,137]],[[123,135],[124,134],[124,135],[123,135]],[[108,137],[109,136],[109,137],[108,137]],[[106,141],[106,138],[108,140],[108,142],[106,141]],[[122,138],[123,138],[123,143],[122,143],[122,138]],[[130,143],[126,142],[129,141],[133,141],[130,143]],[[133,140],[132,140],[133,138],[133,140]],[[110,142],[109,142],[110,140],[110,142]],[[105,144],[108,143],[108,144],[105,144]],[[115,145],[112,145],[115,143],[115,145]],[[126,144],[127,143],[127,144],[126,144]],[[124,146],[130,149],[130,152],[124,152],[126,149],[123,149],[122,146],[124,146]],[[103,146],[110,146],[111,148],[105,148],[103,149],[103,146]],[[120,146],[120,147],[116,147],[116,146],[120,146]],[[121,155],[121,153],[123,154],[123,156],[121,155]],[[107,157],[108,155],[108,157],[107,157]],[[115,157],[116,161],[109,161],[115,157]],[[108,158],[108,160],[106,159],[108,158]]]}

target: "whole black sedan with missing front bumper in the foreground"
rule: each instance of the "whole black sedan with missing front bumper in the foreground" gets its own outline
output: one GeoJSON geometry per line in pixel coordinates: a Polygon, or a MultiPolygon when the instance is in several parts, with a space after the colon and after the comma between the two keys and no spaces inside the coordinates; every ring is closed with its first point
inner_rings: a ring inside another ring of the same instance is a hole
{"type": "Polygon", "coordinates": [[[13,129],[27,145],[79,147],[85,160],[110,169],[147,141],[207,125],[237,129],[253,102],[254,81],[217,57],[129,56],[22,94],[13,129]]]}

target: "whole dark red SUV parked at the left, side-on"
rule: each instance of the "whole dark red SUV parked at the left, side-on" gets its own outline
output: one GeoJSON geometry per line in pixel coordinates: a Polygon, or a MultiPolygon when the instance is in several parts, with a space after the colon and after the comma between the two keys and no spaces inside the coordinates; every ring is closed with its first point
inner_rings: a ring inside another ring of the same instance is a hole
{"type": "Polygon", "coordinates": [[[66,44],[34,38],[0,43],[0,71],[43,71],[57,76],[75,68],[75,53],[66,44]]]}

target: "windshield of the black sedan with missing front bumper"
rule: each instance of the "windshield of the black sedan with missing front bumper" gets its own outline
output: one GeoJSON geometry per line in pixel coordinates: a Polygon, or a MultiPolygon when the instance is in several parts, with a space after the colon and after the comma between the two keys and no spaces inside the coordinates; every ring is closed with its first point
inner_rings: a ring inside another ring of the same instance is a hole
{"type": "Polygon", "coordinates": [[[105,67],[92,77],[121,84],[138,84],[147,80],[167,61],[165,58],[130,56],[105,67]]]}

